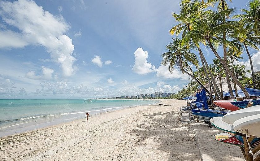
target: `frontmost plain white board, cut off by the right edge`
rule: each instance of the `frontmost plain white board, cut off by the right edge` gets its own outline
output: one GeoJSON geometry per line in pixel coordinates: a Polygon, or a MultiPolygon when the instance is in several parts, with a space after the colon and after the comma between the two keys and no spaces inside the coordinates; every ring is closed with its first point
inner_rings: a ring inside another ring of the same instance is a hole
{"type": "Polygon", "coordinates": [[[243,134],[246,134],[245,129],[248,129],[250,136],[260,137],[260,114],[236,120],[233,124],[233,128],[235,131],[243,134]]]}

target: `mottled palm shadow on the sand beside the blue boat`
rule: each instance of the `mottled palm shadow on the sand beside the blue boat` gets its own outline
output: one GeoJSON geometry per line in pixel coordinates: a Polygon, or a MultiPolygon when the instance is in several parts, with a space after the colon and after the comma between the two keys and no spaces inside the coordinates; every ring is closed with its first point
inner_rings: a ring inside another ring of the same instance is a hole
{"type": "Polygon", "coordinates": [[[145,120],[132,130],[136,145],[146,145],[153,139],[158,150],[169,154],[168,160],[200,160],[193,127],[180,123],[179,111],[142,115],[145,120]]]}

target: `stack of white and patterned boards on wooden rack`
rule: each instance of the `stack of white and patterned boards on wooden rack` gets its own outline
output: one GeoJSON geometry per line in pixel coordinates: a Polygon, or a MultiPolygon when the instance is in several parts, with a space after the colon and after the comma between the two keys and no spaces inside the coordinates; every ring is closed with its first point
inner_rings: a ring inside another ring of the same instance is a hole
{"type": "Polygon", "coordinates": [[[260,105],[230,112],[223,117],[214,117],[210,123],[224,133],[214,135],[215,140],[236,146],[244,146],[242,136],[254,136],[250,146],[260,143],[260,105]]]}

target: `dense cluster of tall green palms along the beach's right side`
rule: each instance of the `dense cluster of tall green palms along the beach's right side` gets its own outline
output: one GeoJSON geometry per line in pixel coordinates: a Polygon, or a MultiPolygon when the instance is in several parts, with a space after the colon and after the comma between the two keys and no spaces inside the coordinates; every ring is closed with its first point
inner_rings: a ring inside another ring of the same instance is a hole
{"type": "MultiPolygon", "coordinates": [[[[260,46],[260,1],[251,0],[247,7],[248,9],[241,9],[243,14],[234,15],[235,8],[229,8],[226,0],[180,2],[180,13],[172,13],[179,24],[169,31],[175,38],[166,46],[168,51],[162,54],[162,64],[169,65],[170,72],[178,68],[192,80],[187,88],[171,98],[180,99],[192,95],[198,85],[206,90],[203,85],[209,82],[216,99],[222,99],[222,89],[218,88],[214,80],[216,76],[227,79],[229,91],[232,91],[230,81],[233,81],[235,90],[237,91],[239,86],[247,98],[249,94],[245,86],[259,89],[260,73],[253,71],[248,48],[258,50],[260,46]],[[217,5],[218,10],[210,10],[209,7],[212,5],[217,5]],[[208,65],[204,57],[201,47],[205,46],[216,56],[213,64],[208,65]],[[243,52],[249,57],[251,70],[245,70],[245,66],[234,63],[243,59],[243,52]],[[193,71],[190,65],[197,70],[193,71]],[[249,74],[252,77],[248,77],[249,74]]],[[[210,94],[208,90],[206,92],[210,94]]],[[[231,98],[234,98],[232,92],[231,98]]]]}

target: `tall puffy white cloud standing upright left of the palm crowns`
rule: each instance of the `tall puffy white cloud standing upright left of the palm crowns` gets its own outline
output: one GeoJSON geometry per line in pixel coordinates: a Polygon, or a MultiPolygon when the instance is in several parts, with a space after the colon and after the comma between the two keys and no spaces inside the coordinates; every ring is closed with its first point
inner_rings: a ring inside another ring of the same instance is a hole
{"type": "Polygon", "coordinates": [[[135,64],[132,68],[137,74],[148,74],[155,71],[155,66],[147,62],[148,52],[138,48],[135,53],[135,64]]]}

